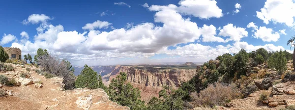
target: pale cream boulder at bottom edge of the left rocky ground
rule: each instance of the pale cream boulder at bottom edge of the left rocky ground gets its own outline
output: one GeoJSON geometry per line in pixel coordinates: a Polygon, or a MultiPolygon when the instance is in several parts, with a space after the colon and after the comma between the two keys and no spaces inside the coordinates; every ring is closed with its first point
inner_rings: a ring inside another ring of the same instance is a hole
{"type": "Polygon", "coordinates": [[[78,97],[76,104],[78,108],[88,110],[92,104],[92,95],[78,97]]]}

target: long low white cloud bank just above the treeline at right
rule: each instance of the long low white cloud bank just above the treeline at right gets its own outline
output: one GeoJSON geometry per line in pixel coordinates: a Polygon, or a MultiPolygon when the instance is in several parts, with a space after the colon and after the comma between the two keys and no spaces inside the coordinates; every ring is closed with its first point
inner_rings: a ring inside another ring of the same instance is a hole
{"type": "Polygon", "coordinates": [[[164,50],[167,55],[180,55],[184,57],[191,57],[195,59],[211,59],[216,58],[218,55],[223,55],[226,53],[234,54],[238,53],[241,49],[247,52],[255,51],[259,48],[265,48],[267,51],[279,51],[285,50],[282,46],[274,46],[273,44],[266,44],[264,46],[253,46],[247,42],[236,42],[233,45],[222,46],[218,45],[216,47],[204,46],[202,44],[189,44],[185,46],[177,46],[175,50],[164,50]]]}

